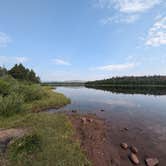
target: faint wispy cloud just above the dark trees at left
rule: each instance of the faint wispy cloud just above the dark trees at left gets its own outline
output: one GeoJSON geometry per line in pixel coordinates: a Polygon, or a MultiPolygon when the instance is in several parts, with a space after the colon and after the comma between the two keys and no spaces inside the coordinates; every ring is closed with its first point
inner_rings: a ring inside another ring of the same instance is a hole
{"type": "Polygon", "coordinates": [[[0,65],[10,65],[15,63],[27,62],[26,57],[21,56],[0,56],[0,65]]]}

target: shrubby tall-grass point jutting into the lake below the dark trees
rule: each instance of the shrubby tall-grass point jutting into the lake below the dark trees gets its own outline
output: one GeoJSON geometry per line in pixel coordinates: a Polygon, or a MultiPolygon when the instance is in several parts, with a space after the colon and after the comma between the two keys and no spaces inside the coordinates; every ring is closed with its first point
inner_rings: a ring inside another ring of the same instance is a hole
{"type": "Polygon", "coordinates": [[[64,95],[39,84],[20,82],[10,76],[0,78],[0,116],[58,108],[69,102],[64,95]]]}

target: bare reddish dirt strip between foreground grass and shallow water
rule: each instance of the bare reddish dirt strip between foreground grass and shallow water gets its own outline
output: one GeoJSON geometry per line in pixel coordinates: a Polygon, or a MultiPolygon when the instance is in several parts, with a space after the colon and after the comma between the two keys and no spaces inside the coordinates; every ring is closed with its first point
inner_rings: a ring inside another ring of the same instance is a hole
{"type": "Polygon", "coordinates": [[[69,115],[81,142],[94,166],[120,166],[120,156],[107,138],[107,125],[94,115],[69,115]]]}

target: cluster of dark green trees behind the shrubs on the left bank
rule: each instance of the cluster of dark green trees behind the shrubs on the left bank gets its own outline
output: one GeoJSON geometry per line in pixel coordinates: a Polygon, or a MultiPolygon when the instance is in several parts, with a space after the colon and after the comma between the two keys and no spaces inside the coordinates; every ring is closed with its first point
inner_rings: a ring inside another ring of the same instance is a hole
{"type": "Polygon", "coordinates": [[[16,64],[10,70],[7,70],[5,67],[0,67],[0,77],[5,75],[11,75],[18,80],[40,83],[40,78],[36,73],[32,69],[25,68],[22,64],[16,64]]]}

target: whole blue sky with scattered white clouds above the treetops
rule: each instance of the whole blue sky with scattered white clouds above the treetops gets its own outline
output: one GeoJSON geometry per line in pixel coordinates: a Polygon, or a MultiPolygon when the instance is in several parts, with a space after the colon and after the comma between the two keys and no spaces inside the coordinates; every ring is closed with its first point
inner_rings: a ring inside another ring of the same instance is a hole
{"type": "Polygon", "coordinates": [[[43,81],[166,74],[165,0],[0,0],[0,65],[43,81]]]}

